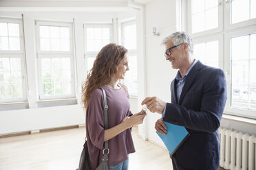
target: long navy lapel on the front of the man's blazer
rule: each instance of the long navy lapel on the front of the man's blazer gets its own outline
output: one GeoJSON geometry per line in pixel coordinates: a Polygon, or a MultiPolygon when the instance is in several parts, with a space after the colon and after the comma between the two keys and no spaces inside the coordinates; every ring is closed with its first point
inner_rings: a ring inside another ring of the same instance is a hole
{"type": "Polygon", "coordinates": [[[200,69],[202,69],[202,62],[200,62],[198,60],[198,62],[193,66],[193,68],[191,69],[191,71],[189,72],[189,74],[186,77],[186,82],[182,88],[182,93],[180,94],[179,104],[181,103],[182,99],[186,95],[186,92],[187,92],[187,90],[189,90],[189,87],[191,86],[191,84],[195,78],[195,75],[198,74],[198,71],[200,71],[200,69]]]}

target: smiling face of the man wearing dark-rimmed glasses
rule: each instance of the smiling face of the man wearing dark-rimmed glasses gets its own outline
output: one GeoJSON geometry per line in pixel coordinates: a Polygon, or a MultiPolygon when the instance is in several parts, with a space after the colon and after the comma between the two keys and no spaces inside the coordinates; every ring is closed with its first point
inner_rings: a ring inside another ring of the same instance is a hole
{"type": "MultiPolygon", "coordinates": [[[[165,50],[173,47],[173,42],[172,40],[169,40],[166,44],[165,44],[165,50]]],[[[182,66],[182,60],[183,60],[183,55],[182,55],[182,45],[179,46],[180,49],[178,49],[178,47],[175,47],[173,49],[171,49],[171,55],[170,56],[166,56],[166,60],[169,60],[169,62],[171,62],[171,66],[173,69],[180,69],[180,67],[182,66]]]]}

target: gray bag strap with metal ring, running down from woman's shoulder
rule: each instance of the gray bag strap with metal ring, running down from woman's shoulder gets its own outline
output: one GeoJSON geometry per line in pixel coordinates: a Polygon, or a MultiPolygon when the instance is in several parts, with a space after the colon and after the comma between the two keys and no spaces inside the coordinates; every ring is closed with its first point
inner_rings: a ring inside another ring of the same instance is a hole
{"type": "MultiPolygon", "coordinates": [[[[107,96],[104,88],[100,87],[100,89],[103,91],[103,99],[104,99],[104,129],[107,130],[109,128],[109,122],[107,119],[107,110],[109,109],[109,106],[107,106],[107,96]]],[[[103,160],[105,159],[108,160],[108,156],[107,156],[108,154],[109,154],[109,141],[105,141],[103,155],[106,155],[106,156],[103,156],[103,160]],[[107,150],[107,153],[105,153],[105,150],[107,150]]]]}

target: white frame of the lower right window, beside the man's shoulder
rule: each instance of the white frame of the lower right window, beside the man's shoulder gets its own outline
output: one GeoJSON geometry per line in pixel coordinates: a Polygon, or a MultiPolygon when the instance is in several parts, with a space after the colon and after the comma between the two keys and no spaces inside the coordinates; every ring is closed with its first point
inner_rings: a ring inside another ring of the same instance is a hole
{"type": "MultiPolygon", "coordinates": [[[[230,49],[231,45],[231,38],[237,37],[237,36],[246,36],[248,34],[256,34],[256,27],[250,27],[249,29],[239,29],[233,32],[228,32],[225,34],[225,45],[226,49],[230,49]]],[[[230,56],[231,57],[231,50],[225,50],[224,56],[230,56]]],[[[255,110],[246,110],[242,108],[232,108],[231,107],[231,60],[229,58],[224,58],[224,68],[226,73],[226,85],[228,87],[227,95],[228,99],[226,101],[226,107],[224,112],[233,114],[236,116],[242,116],[242,117],[249,117],[249,118],[256,118],[256,111],[255,110]]]]}

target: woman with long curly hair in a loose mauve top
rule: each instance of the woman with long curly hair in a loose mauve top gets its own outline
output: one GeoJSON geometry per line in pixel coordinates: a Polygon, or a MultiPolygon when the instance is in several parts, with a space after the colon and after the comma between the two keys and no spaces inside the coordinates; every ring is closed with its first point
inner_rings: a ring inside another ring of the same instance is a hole
{"type": "Polygon", "coordinates": [[[83,83],[83,103],[86,108],[86,136],[92,169],[103,157],[103,143],[109,140],[109,170],[127,170],[128,154],[134,153],[131,127],[143,122],[146,114],[132,114],[128,93],[119,80],[129,70],[127,49],[109,44],[98,53],[94,65],[83,83]],[[104,130],[103,87],[107,94],[109,129],[104,130]]]}

